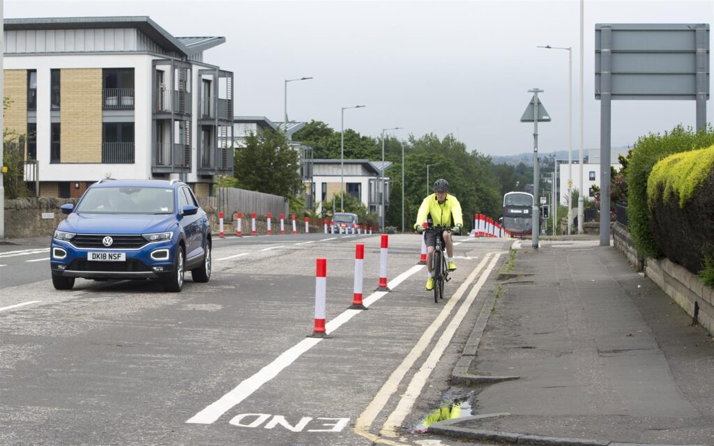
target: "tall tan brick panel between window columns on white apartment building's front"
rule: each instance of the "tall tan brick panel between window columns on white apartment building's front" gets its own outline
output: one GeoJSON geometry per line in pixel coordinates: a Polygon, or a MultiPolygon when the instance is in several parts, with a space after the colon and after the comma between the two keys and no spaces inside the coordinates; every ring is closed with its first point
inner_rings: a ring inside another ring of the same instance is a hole
{"type": "Polygon", "coordinates": [[[62,163],[101,163],[101,69],[61,71],[62,163]]]}

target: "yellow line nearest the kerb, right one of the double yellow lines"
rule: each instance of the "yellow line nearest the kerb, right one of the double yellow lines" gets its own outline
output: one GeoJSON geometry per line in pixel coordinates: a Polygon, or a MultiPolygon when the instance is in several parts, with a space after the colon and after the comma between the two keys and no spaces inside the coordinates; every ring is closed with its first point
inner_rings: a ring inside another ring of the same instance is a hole
{"type": "Polygon", "coordinates": [[[471,292],[468,293],[466,299],[463,300],[461,307],[458,309],[453,319],[451,319],[451,322],[449,322],[446,326],[446,330],[443,330],[441,337],[436,342],[436,345],[434,345],[434,348],[431,350],[428,358],[423,363],[421,368],[419,368],[418,372],[416,372],[411,378],[411,382],[409,382],[409,385],[403,393],[401,400],[399,400],[397,407],[389,415],[386,422],[384,422],[381,430],[382,435],[387,437],[398,436],[395,431],[396,427],[401,426],[404,419],[409,414],[414,402],[416,402],[416,398],[419,394],[421,394],[421,390],[424,385],[426,385],[426,380],[429,375],[431,375],[431,370],[436,367],[436,363],[438,363],[438,360],[441,358],[444,350],[446,350],[448,343],[451,342],[451,338],[453,338],[454,333],[456,333],[456,329],[459,325],[461,325],[461,321],[466,316],[466,313],[468,313],[468,308],[471,307],[473,300],[476,299],[476,295],[478,295],[478,292],[481,290],[483,283],[486,283],[488,275],[491,274],[493,268],[496,268],[496,263],[498,262],[498,258],[501,254],[502,253],[496,253],[496,255],[491,258],[491,264],[488,265],[488,268],[483,271],[483,274],[481,274],[481,277],[478,278],[476,285],[473,285],[471,292]]]}

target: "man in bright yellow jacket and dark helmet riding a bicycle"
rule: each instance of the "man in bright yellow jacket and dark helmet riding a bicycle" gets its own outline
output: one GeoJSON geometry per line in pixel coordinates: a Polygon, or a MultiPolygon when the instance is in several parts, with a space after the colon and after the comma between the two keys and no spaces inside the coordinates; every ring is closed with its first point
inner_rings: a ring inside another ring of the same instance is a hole
{"type": "MultiPolygon", "coordinates": [[[[461,217],[461,203],[455,196],[448,195],[448,181],[439,178],[434,182],[434,193],[424,198],[416,216],[415,229],[423,229],[422,224],[431,217],[435,226],[456,226],[461,232],[463,218],[461,217]],[[453,216],[453,219],[452,219],[453,216]],[[452,224],[453,223],[453,224],[452,224]]],[[[434,279],[431,271],[431,258],[436,246],[436,234],[427,232],[424,235],[426,243],[426,289],[433,290],[434,279]]],[[[446,258],[448,260],[448,270],[456,270],[456,263],[453,261],[453,242],[451,241],[451,231],[444,231],[442,235],[443,245],[446,246],[446,258]]]]}

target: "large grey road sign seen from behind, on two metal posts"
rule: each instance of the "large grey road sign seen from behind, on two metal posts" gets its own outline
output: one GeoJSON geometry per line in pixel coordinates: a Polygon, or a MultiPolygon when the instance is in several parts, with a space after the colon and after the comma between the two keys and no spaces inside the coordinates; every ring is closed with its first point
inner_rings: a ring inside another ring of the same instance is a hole
{"type": "Polygon", "coordinates": [[[700,131],[709,98],[708,54],[708,24],[595,24],[601,246],[610,245],[611,101],[695,100],[700,131]]]}

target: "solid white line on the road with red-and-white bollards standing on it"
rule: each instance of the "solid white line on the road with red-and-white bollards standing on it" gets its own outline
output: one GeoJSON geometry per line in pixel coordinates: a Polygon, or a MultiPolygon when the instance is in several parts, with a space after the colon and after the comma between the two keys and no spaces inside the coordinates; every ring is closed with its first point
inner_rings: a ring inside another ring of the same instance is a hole
{"type": "MultiPolygon", "coordinates": [[[[402,283],[404,280],[416,273],[418,270],[421,270],[421,268],[423,268],[423,265],[416,265],[411,267],[409,270],[405,271],[404,273],[401,273],[391,282],[389,282],[387,284],[388,287],[391,289],[396,288],[397,285],[402,283]]],[[[386,292],[384,291],[376,291],[369,295],[368,298],[363,300],[363,304],[367,306],[371,303],[375,303],[385,294],[386,292]]],[[[360,313],[361,311],[362,310],[343,311],[341,315],[338,315],[336,318],[334,318],[325,325],[326,332],[332,333],[333,331],[340,328],[343,323],[346,323],[348,320],[353,318],[354,315],[360,313]]],[[[258,390],[263,384],[265,384],[269,380],[272,380],[273,377],[276,377],[278,373],[280,373],[284,368],[288,367],[288,365],[291,365],[296,359],[300,358],[303,353],[313,348],[321,340],[321,338],[307,338],[301,340],[299,343],[293,345],[293,347],[283,352],[280,356],[278,356],[278,358],[273,360],[272,363],[263,367],[255,375],[249,377],[246,380],[243,380],[240,384],[234,387],[233,390],[226,393],[226,395],[223,395],[216,402],[213,402],[211,403],[211,405],[208,405],[205,409],[201,410],[201,412],[198,412],[196,415],[193,415],[193,417],[189,418],[186,422],[198,423],[203,425],[210,425],[211,423],[215,422],[216,420],[218,420],[219,417],[221,417],[221,415],[228,412],[228,410],[231,410],[233,406],[245,400],[253,392],[258,390]]]]}

